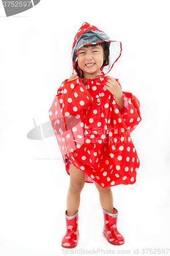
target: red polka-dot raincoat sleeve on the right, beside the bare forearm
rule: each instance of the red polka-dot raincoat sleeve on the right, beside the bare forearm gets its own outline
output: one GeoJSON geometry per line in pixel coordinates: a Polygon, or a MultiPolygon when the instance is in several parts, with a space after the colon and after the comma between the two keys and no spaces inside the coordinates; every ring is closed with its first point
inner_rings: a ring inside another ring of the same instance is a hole
{"type": "MultiPolygon", "coordinates": [[[[118,79],[116,79],[116,81],[120,86],[118,79]]],[[[124,92],[124,91],[123,91],[123,101],[124,101],[124,110],[122,113],[122,118],[125,121],[124,123],[126,125],[126,129],[128,130],[129,133],[131,133],[141,121],[140,109],[139,109],[140,103],[134,94],[130,92],[124,92]]],[[[115,105],[116,105],[115,101],[112,102],[113,109],[115,109],[115,105]]]]}

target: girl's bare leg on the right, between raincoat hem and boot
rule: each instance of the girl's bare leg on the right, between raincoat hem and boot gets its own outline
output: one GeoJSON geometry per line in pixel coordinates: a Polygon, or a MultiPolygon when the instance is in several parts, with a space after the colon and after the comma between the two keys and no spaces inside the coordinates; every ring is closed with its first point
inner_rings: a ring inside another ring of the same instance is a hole
{"type": "Polygon", "coordinates": [[[99,191],[100,203],[104,210],[113,214],[113,195],[111,187],[103,188],[99,184],[95,183],[96,188],[99,191]]]}

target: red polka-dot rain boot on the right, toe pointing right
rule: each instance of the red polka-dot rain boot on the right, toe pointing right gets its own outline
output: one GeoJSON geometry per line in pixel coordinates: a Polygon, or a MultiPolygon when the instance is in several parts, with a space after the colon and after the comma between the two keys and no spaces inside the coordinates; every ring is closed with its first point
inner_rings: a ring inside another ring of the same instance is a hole
{"type": "Polygon", "coordinates": [[[104,214],[104,227],[103,227],[103,235],[107,239],[110,244],[120,245],[124,244],[125,240],[122,234],[120,234],[117,230],[117,215],[118,211],[113,207],[113,214],[109,214],[106,210],[103,209],[104,214]]]}

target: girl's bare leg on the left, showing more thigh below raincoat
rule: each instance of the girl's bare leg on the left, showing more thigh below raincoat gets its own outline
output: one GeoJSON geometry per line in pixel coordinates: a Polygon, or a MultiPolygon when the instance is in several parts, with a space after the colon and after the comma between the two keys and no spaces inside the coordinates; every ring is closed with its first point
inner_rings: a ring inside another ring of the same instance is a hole
{"type": "Polygon", "coordinates": [[[67,215],[74,216],[79,209],[80,193],[84,187],[84,173],[72,163],[69,164],[70,184],[67,194],[67,215]]]}

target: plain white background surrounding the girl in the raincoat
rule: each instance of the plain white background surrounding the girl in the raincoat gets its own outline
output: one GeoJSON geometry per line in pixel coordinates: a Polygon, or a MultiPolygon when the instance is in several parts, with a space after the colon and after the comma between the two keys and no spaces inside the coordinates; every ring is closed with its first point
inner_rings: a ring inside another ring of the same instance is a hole
{"type": "Polygon", "coordinates": [[[132,255],[138,249],[142,255],[142,248],[170,248],[169,1],[41,0],[11,17],[0,4],[2,256],[64,254],[69,176],[56,138],[29,140],[27,134],[35,127],[33,118],[36,125],[49,121],[57,89],[71,75],[72,43],[84,22],[122,42],[122,56],[109,75],[140,101],[142,121],[132,133],[140,167],[134,185],[112,187],[125,244],[111,245],[102,236],[99,194],[86,183],[80,239],[72,250],[132,255]]]}

